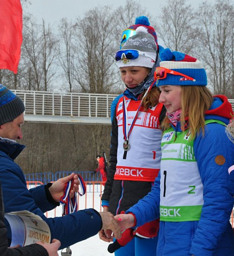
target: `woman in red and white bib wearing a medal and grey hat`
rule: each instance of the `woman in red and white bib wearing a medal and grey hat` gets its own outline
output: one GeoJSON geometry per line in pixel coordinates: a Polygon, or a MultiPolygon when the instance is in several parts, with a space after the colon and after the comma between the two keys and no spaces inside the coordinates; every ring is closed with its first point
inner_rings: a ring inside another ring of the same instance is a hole
{"type": "MultiPolygon", "coordinates": [[[[113,215],[126,211],[151,191],[161,160],[161,121],[165,108],[158,103],[154,71],[158,49],[150,26],[139,26],[115,54],[126,90],[115,106],[112,121],[110,167],[102,195],[103,211],[113,215]]],[[[155,256],[159,220],[128,229],[108,246],[115,256],[155,256]]],[[[110,230],[100,239],[112,241],[110,230]]]]}

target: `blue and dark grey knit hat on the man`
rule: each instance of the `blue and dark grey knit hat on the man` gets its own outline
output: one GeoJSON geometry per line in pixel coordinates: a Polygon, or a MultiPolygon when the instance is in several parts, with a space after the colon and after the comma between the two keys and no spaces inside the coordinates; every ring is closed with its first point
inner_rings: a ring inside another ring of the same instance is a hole
{"type": "Polygon", "coordinates": [[[25,107],[20,97],[0,84],[0,125],[13,121],[24,110],[25,107]]]}

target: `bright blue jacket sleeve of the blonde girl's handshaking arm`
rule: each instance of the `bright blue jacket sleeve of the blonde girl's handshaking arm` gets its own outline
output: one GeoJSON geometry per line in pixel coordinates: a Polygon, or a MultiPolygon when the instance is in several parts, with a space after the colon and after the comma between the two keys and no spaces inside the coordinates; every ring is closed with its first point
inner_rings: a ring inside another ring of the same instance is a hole
{"type": "Polygon", "coordinates": [[[150,222],[159,218],[159,203],[160,203],[160,177],[161,173],[155,179],[152,190],[140,199],[137,204],[133,205],[126,211],[132,212],[136,216],[136,227],[140,227],[146,222],[150,222]]]}

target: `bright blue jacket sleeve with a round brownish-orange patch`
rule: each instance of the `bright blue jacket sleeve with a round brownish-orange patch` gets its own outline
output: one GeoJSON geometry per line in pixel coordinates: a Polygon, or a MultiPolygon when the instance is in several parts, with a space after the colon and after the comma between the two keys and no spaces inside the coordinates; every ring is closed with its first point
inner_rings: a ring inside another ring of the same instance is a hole
{"type": "Polygon", "coordinates": [[[233,208],[234,187],[228,168],[234,164],[234,145],[225,134],[225,126],[206,125],[205,136],[200,132],[194,141],[194,154],[204,186],[204,205],[190,253],[211,255],[233,208]]]}

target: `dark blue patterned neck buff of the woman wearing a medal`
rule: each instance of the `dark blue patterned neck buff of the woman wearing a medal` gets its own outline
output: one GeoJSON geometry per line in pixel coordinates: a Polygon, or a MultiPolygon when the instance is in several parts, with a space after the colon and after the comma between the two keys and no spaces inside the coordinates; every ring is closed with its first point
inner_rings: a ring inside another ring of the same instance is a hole
{"type": "Polygon", "coordinates": [[[128,88],[127,89],[134,95],[134,96],[138,96],[141,93],[144,92],[144,90],[148,89],[151,85],[151,83],[153,82],[153,80],[155,79],[154,77],[154,72],[155,72],[155,68],[157,66],[159,66],[159,62],[160,59],[158,58],[158,54],[157,54],[157,58],[156,58],[156,62],[153,65],[153,68],[151,69],[151,71],[149,72],[149,74],[146,76],[145,80],[143,82],[141,82],[137,87],[134,88],[128,88]]]}

